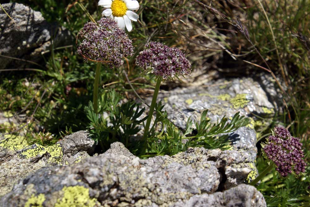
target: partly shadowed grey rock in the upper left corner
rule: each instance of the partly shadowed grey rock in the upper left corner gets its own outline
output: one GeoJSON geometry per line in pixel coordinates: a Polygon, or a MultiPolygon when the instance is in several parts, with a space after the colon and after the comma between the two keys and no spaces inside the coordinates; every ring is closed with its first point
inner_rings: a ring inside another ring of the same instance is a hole
{"type": "MultiPolygon", "coordinates": [[[[0,54],[37,62],[41,52],[50,50],[51,37],[54,47],[70,39],[69,31],[49,24],[41,12],[19,3],[2,4],[15,23],[0,9],[0,54]]],[[[0,69],[12,65],[20,68],[27,64],[0,56],[0,69]]]]}

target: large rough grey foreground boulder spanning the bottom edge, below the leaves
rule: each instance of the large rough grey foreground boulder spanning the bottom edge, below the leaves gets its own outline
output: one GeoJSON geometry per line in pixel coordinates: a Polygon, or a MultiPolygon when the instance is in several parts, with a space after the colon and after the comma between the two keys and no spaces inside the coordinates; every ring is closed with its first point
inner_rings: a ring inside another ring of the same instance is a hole
{"type": "Polygon", "coordinates": [[[266,206],[260,192],[241,184],[251,170],[244,151],[189,148],[145,160],[123,151],[37,170],[3,196],[0,206],[266,206]],[[241,185],[224,191],[231,180],[241,185]],[[77,194],[82,198],[75,199],[77,194]]]}

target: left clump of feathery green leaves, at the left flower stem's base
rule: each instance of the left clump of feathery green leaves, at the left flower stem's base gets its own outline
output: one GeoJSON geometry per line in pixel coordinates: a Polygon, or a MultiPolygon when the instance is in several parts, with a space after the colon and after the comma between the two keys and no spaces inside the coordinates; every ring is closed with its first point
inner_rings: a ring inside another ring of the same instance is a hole
{"type": "Polygon", "coordinates": [[[119,94],[110,91],[101,96],[99,114],[94,112],[91,101],[86,108],[87,118],[90,120],[88,128],[90,128],[93,139],[100,143],[103,150],[108,149],[115,141],[120,141],[128,147],[130,136],[141,130],[138,125],[146,119],[138,119],[145,108],[139,110],[139,106],[131,102],[119,105],[119,101],[119,94]],[[109,113],[107,118],[100,114],[106,110],[109,113]]]}

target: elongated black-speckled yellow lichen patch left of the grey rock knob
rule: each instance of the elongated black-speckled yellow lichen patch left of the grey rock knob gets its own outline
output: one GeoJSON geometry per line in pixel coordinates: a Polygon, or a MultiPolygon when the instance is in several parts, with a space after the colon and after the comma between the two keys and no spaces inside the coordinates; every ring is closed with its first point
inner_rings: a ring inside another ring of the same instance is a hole
{"type": "Polygon", "coordinates": [[[62,151],[60,144],[54,144],[52,146],[44,147],[40,144],[35,144],[28,149],[22,150],[20,153],[21,158],[29,159],[31,157],[36,157],[37,155],[43,155],[45,153],[49,153],[50,157],[48,158],[48,162],[61,164],[62,162],[62,151]]]}

